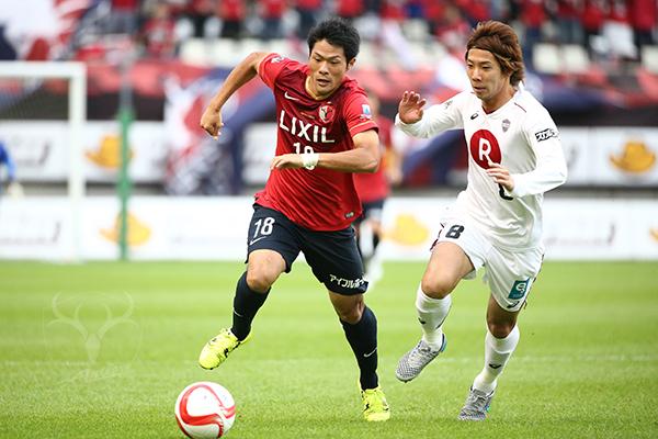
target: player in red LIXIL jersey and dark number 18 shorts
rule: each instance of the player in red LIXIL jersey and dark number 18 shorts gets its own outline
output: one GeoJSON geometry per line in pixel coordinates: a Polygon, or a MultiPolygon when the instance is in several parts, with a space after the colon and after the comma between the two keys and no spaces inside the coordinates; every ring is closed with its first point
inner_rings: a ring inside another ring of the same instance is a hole
{"type": "Polygon", "coordinates": [[[232,326],[205,345],[198,362],[214,369],[249,339],[251,322],[271,286],[291,271],[302,251],[327,288],[356,357],[363,416],[386,420],[390,414],[376,373],[377,320],[363,300],[367,282],[351,226],[361,214],[352,172],[374,172],[379,162],[367,97],[347,77],[359,44],[352,25],[340,19],[324,21],[308,35],[307,64],[252,53],[229,74],[204,112],[201,126],[218,136],[223,105],[258,75],[274,93],[277,140],[265,189],[256,194],[232,326]]]}

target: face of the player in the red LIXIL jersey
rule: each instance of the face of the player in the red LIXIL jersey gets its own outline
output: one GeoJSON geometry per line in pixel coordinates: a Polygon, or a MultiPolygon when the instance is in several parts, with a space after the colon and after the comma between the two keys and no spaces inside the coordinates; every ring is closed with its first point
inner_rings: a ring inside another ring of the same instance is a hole
{"type": "Polygon", "coordinates": [[[342,47],[332,46],[326,40],[317,42],[308,58],[309,91],[316,99],[327,98],[340,87],[353,65],[354,59],[348,63],[342,47]]]}

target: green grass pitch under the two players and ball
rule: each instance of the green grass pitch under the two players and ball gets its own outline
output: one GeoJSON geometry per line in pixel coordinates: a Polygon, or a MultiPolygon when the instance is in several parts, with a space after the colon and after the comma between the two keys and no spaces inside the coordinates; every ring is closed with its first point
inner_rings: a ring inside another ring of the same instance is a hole
{"type": "Polygon", "coordinates": [[[1,438],[182,438],[179,392],[215,381],[237,402],[229,438],[656,438],[658,264],[547,262],[485,423],[456,415],[483,362],[487,293],[462,282],[449,347],[413,382],[422,263],[387,263],[366,295],[379,322],[392,419],[361,418],[356,365],[331,305],[297,263],[253,339],[215,371],[196,364],[229,324],[235,263],[0,263],[1,438]]]}

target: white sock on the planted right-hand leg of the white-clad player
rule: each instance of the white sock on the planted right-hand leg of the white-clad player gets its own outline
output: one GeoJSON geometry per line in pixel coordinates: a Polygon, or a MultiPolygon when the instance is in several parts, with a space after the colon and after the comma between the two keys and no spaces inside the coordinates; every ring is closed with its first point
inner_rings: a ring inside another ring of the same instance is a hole
{"type": "Polygon", "coordinates": [[[521,331],[519,330],[519,326],[514,326],[514,329],[506,338],[496,338],[487,329],[487,336],[485,337],[485,367],[475,378],[473,387],[485,393],[494,392],[498,376],[502,373],[514,349],[517,349],[520,337],[521,331]]]}

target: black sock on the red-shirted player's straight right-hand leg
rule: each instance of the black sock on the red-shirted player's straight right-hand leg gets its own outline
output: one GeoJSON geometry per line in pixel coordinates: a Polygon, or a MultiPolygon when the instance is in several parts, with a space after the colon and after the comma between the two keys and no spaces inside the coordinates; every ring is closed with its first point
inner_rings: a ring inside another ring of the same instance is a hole
{"type": "Polygon", "coordinates": [[[361,320],[355,325],[340,320],[348,342],[352,347],[361,375],[361,389],[375,389],[377,378],[377,318],[367,306],[363,309],[361,320]]]}

